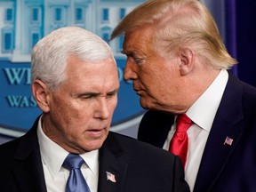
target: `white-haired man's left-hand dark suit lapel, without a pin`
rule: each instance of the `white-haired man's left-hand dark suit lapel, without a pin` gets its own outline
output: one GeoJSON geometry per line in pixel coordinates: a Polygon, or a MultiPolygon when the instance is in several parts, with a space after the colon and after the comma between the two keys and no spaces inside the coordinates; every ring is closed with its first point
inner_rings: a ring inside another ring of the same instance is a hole
{"type": "Polygon", "coordinates": [[[20,191],[24,192],[46,192],[36,127],[37,120],[33,128],[20,138],[20,145],[14,156],[16,164],[13,166],[12,172],[20,191]]]}

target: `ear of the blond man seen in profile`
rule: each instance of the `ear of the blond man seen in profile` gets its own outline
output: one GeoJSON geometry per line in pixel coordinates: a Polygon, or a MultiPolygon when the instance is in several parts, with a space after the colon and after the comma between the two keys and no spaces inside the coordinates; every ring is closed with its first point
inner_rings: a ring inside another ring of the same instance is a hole
{"type": "Polygon", "coordinates": [[[180,51],[180,75],[186,76],[194,68],[195,53],[190,48],[180,51]]]}

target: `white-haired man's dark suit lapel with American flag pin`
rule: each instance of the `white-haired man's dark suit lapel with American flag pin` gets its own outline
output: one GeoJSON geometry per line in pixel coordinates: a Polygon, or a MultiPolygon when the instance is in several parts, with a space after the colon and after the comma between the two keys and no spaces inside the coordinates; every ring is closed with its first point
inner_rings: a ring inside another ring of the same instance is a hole
{"type": "Polygon", "coordinates": [[[98,192],[122,192],[126,171],[128,169],[128,157],[124,155],[111,132],[108,139],[100,148],[100,171],[98,192]],[[107,177],[109,173],[109,178],[107,177]]]}

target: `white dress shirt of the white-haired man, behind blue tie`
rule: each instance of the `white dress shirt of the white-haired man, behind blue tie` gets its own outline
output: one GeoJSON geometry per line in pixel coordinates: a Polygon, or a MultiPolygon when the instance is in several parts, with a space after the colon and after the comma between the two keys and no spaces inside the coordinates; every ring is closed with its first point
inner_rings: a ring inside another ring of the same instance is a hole
{"type": "MultiPolygon", "coordinates": [[[[37,136],[47,191],[64,192],[69,171],[68,169],[63,168],[61,165],[68,156],[68,151],[61,148],[44,134],[41,126],[41,117],[37,126],[37,136]]],[[[99,175],[99,150],[93,150],[91,152],[80,154],[80,156],[84,159],[84,162],[86,162],[81,167],[84,178],[91,192],[97,192],[99,175]]]]}

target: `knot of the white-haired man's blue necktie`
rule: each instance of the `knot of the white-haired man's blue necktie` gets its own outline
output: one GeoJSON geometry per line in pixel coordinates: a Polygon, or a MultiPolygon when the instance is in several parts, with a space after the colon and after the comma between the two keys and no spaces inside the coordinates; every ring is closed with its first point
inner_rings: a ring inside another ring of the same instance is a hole
{"type": "Polygon", "coordinates": [[[81,156],[69,154],[63,163],[63,167],[71,171],[72,169],[80,169],[82,164],[84,164],[84,159],[81,156]]]}

